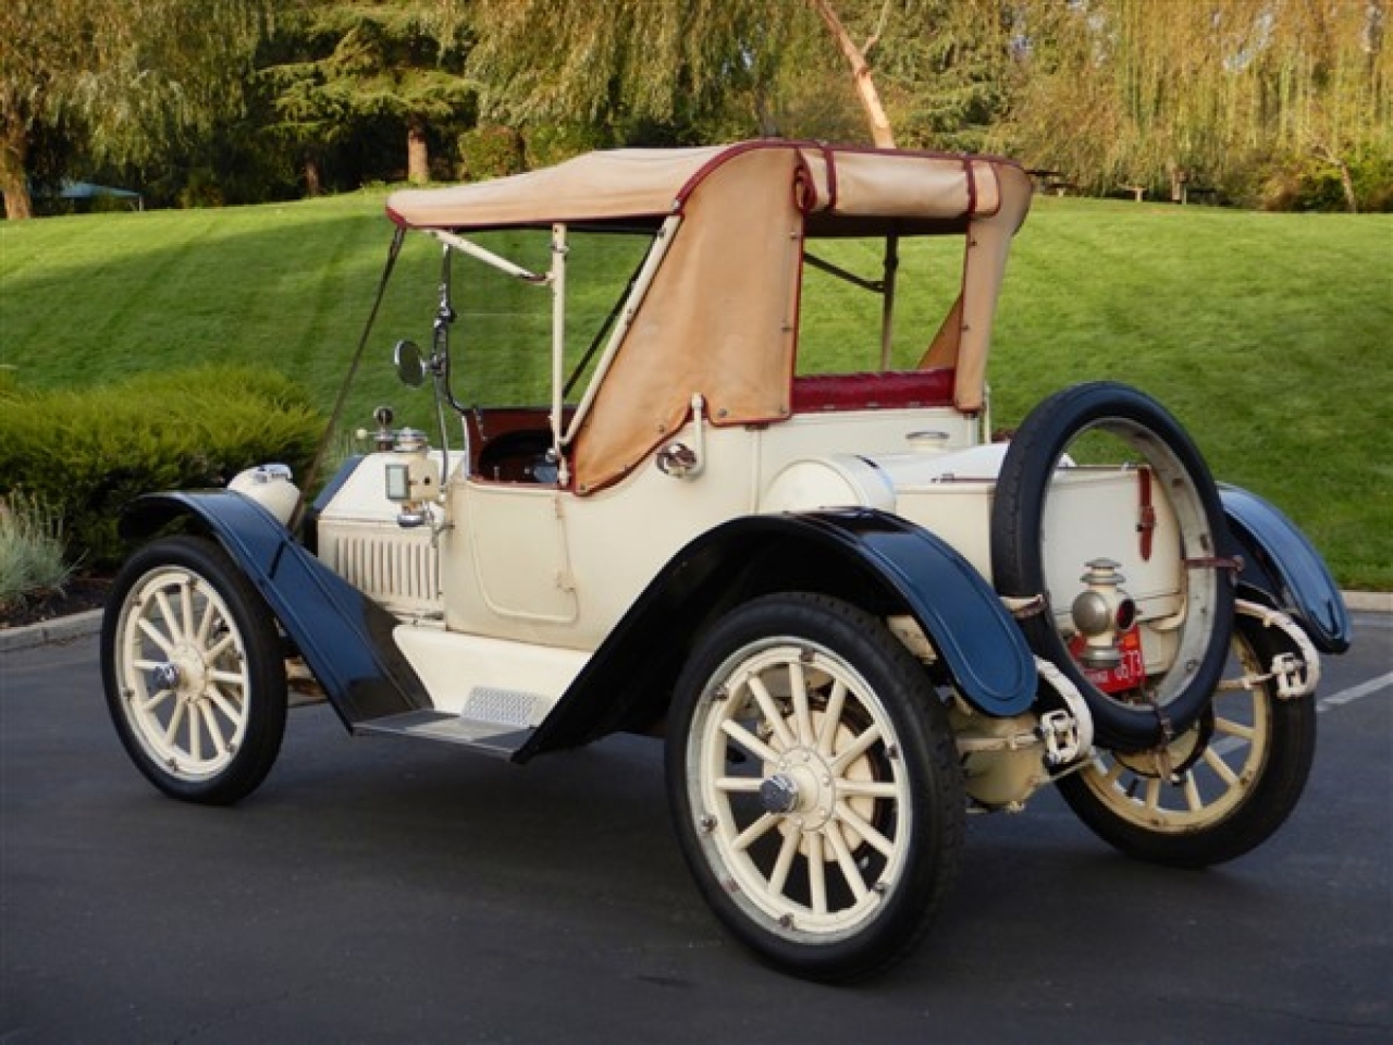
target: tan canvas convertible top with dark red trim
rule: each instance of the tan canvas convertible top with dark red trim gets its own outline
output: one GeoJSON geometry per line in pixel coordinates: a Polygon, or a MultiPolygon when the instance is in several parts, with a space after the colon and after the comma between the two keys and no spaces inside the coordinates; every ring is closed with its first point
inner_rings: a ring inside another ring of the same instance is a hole
{"type": "Polygon", "coordinates": [[[981,410],[1006,255],[1029,196],[1010,160],[766,139],[595,152],[394,192],[387,213],[454,231],[681,217],[574,440],[575,489],[589,493],[676,432],[694,394],[713,425],[790,415],[805,235],[965,233],[961,298],[922,365],[954,366],[956,405],[981,410]]]}

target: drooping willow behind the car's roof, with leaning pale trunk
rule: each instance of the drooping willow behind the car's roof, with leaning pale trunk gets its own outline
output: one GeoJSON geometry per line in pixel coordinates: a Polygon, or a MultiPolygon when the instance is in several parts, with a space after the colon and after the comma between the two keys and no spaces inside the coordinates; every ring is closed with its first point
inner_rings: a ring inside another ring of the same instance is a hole
{"type": "MultiPolygon", "coordinates": [[[[497,118],[773,134],[787,130],[790,110],[781,103],[820,92],[830,64],[840,70],[833,74],[837,93],[859,100],[872,141],[893,148],[871,53],[887,17],[903,6],[478,0],[471,68],[492,85],[485,106],[497,118]]],[[[795,103],[791,113],[800,109],[795,103]]]]}

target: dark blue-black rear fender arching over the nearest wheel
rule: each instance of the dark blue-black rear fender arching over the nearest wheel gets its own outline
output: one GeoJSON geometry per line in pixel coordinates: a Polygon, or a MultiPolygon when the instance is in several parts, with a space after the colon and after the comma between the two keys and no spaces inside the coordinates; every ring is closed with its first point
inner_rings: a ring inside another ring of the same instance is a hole
{"type": "Polygon", "coordinates": [[[1035,659],[992,587],[940,538],[873,510],[748,516],[692,541],[659,573],[517,761],[662,719],[702,627],[742,601],[814,591],[911,614],[986,715],[1035,702],[1035,659]]]}

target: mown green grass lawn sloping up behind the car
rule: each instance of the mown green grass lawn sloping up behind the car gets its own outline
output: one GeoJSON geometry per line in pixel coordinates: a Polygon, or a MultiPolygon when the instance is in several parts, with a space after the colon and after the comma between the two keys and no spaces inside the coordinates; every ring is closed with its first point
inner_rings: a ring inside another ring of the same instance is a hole
{"type": "MultiPolygon", "coordinates": [[[[380,194],[0,223],[0,364],[38,387],[213,361],[272,366],[327,412],[389,240],[380,194]]],[[[429,343],[437,266],[437,248],[408,237],[350,428],[378,403],[433,428],[426,396],[396,383],[390,346],[429,343]]],[[[627,266],[616,259],[620,279],[627,266]]],[[[598,322],[603,294],[573,291],[598,322]]],[[[500,330],[517,323],[510,293],[475,302],[500,330]]],[[[839,298],[829,301],[836,319],[839,298]]],[[[912,323],[904,332],[914,337],[897,348],[901,362],[921,337],[912,323]]],[[[457,390],[474,401],[472,382],[518,359],[478,332],[464,337],[457,390]]],[[[1077,380],[1137,385],[1177,414],[1219,478],[1282,506],[1341,584],[1393,588],[1393,217],[1039,199],[1017,238],[993,353],[997,425],[1077,380]]]]}

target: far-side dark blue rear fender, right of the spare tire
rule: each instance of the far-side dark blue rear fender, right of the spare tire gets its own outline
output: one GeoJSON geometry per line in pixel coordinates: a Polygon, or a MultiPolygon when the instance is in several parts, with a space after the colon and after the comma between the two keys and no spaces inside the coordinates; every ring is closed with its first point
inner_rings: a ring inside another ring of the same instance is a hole
{"type": "Polygon", "coordinates": [[[1322,653],[1350,648],[1350,613],[1305,534],[1256,493],[1219,486],[1229,529],[1243,548],[1238,582],[1250,596],[1295,619],[1322,653]]]}

